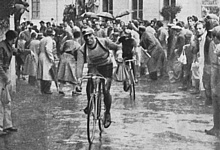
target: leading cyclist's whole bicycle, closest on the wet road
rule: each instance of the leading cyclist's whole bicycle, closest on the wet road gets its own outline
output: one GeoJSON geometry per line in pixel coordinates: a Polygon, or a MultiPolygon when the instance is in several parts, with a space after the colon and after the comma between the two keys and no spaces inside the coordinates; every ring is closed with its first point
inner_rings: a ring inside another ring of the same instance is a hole
{"type": "Polygon", "coordinates": [[[91,80],[92,91],[90,93],[90,100],[87,114],[87,137],[91,144],[95,137],[96,123],[99,124],[100,132],[104,129],[104,114],[101,115],[103,92],[106,83],[106,78],[100,74],[88,74],[82,77],[82,80],[91,80]]]}

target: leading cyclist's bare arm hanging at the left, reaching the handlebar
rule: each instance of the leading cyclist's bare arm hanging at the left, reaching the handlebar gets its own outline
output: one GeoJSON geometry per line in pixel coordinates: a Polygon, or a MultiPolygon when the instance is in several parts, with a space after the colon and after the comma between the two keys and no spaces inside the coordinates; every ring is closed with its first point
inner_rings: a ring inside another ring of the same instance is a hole
{"type": "Polygon", "coordinates": [[[83,74],[83,67],[84,67],[84,46],[82,46],[77,53],[77,63],[76,63],[76,77],[77,79],[82,78],[82,74],[83,74]]]}

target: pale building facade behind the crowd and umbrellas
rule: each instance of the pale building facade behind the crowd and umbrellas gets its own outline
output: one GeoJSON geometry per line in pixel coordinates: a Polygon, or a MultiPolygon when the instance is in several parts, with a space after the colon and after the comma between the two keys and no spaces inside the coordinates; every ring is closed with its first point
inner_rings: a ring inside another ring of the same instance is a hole
{"type": "MultiPolygon", "coordinates": [[[[61,23],[63,19],[63,11],[66,5],[76,4],[76,2],[88,3],[92,0],[27,0],[30,4],[29,12],[22,17],[39,23],[40,20],[51,21],[51,18],[57,23],[61,23]]],[[[130,13],[121,17],[121,20],[128,22],[131,19],[140,18],[142,20],[152,20],[154,18],[163,20],[160,11],[165,5],[179,5],[182,7],[181,12],[177,14],[177,18],[186,21],[187,16],[195,15],[202,17],[203,9],[219,8],[220,0],[93,0],[96,2],[96,12],[110,12],[113,15],[120,14],[125,10],[130,13]]]]}

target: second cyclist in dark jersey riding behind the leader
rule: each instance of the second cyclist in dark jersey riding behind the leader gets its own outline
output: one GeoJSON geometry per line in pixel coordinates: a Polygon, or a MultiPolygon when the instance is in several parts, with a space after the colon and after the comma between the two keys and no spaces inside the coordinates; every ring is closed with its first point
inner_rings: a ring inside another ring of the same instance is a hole
{"type": "MultiPolygon", "coordinates": [[[[124,60],[129,60],[129,59],[135,59],[136,58],[136,48],[137,48],[137,42],[135,41],[134,38],[132,38],[131,31],[129,29],[126,29],[121,37],[118,40],[118,43],[122,43],[122,57],[124,60]]],[[[135,77],[135,82],[137,82],[136,79],[136,67],[135,63],[132,63],[132,69],[135,77]]],[[[128,65],[128,63],[126,63],[128,65]]],[[[128,91],[129,86],[127,85],[126,81],[124,81],[124,90],[128,91]]]]}

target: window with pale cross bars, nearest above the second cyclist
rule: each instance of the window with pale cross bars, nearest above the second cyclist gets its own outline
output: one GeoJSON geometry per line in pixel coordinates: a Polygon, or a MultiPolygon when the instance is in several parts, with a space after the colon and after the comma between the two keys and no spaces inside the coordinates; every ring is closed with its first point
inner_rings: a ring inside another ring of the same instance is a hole
{"type": "Polygon", "coordinates": [[[143,0],[132,0],[132,18],[143,19],[143,0]]]}

